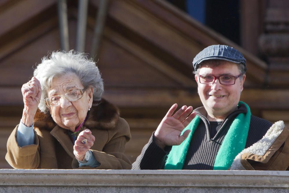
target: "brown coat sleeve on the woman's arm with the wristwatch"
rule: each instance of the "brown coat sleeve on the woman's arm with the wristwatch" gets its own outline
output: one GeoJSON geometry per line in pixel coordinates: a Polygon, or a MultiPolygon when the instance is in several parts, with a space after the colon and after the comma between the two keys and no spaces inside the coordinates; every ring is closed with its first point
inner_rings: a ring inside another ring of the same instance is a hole
{"type": "Polygon", "coordinates": [[[114,169],[130,170],[131,162],[124,154],[125,144],[130,140],[130,130],[127,122],[119,118],[114,130],[108,130],[109,141],[103,147],[103,151],[91,150],[95,159],[100,163],[98,167],[78,167],[78,161],[74,158],[72,167],[78,169],[114,169]]]}

